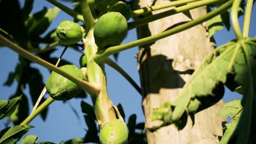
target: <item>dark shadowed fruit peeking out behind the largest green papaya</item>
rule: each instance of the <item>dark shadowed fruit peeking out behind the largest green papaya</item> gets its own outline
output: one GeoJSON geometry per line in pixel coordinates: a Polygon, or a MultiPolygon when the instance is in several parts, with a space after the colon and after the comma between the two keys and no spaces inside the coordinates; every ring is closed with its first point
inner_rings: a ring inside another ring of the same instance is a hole
{"type": "Polygon", "coordinates": [[[128,21],[131,18],[132,10],[130,5],[126,4],[125,2],[117,2],[112,7],[109,8],[109,11],[115,11],[121,13],[125,19],[128,21]]]}

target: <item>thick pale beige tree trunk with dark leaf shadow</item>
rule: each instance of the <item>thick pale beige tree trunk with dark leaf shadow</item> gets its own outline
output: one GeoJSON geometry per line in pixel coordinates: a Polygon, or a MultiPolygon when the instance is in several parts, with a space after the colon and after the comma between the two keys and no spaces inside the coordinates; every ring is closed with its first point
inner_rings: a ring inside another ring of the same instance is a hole
{"type": "MultiPolygon", "coordinates": [[[[170,1],[139,1],[138,8],[158,5],[170,1]]],[[[171,8],[172,9],[172,8],[171,8]]],[[[164,10],[158,10],[153,14],[164,10]]],[[[181,25],[206,14],[206,7],[190,10],[154,21],[147,26],[137,28],[138,39],[165,31],[167,28],[181,25]]],[[[226,118],[217,116],[223,105],[220,100],[195,115],[192,124],[188,117],[187,125],[177,130],[174,125],[167,125],[150,131],[154,123],[150,119],[153,109],[160,107],[165,101],[174,100],[182,91],[185,82],[193,71],[199,67],[203,58],[214,49],[207,33],[206,22],[184,32],[139,47],[138,70],[143,93],[143,110],[146,117],[145,131],[148,143],[219,143],[222,126],[226,118]]]]}

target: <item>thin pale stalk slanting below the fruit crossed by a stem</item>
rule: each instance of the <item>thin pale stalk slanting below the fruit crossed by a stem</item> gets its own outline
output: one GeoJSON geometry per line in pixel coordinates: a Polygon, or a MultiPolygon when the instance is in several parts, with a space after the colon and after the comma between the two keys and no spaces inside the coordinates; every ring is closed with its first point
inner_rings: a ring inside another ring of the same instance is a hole
{"type": "Polygon", "coordinates": [[[34,111],[34,113],[27,117],[20,125],[25,125],[28,124],[32,121],[32,119],[34,119],[40,112],[42,112],[48,105],[50,105],[51,103],[53,103],[54,99],[49,97],[48,99],[46,99],[44,101],[44,103],[42,103],[41,105],[38,106],[38,108],[34,111]]]}

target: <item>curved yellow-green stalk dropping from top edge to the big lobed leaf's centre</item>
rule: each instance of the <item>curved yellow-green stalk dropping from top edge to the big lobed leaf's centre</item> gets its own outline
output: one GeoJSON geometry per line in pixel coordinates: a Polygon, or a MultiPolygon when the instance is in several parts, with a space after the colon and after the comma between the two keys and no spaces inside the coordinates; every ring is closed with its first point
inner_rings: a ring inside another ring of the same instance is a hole
{"type": "Polygon", "coordinates": [[[240,7],[241,1],[242,0],[234,0],[231,9],[231,21],[237,40],[241,40],[243,38],[238,22],[238,8],[240,7]]]}

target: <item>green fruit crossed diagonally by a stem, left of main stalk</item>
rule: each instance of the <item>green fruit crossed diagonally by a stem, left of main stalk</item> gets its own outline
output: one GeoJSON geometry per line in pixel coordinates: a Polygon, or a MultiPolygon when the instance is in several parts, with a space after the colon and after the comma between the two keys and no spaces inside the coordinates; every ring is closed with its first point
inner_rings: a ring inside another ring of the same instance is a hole
{"type": "MultiPolygon", "coordinates": [[[[75,65],[63,65],[60,69],[83,80],[83,71],[75,65]]],[[[48,77],[45,87],[51,98],[55,100],[72,99],[81,91],[74,82],[55,72],[48,77]]]]}

